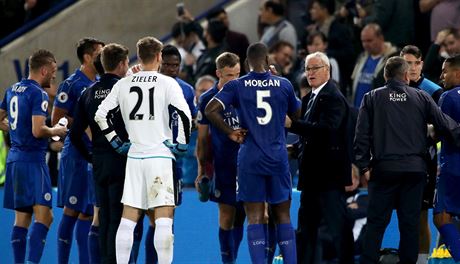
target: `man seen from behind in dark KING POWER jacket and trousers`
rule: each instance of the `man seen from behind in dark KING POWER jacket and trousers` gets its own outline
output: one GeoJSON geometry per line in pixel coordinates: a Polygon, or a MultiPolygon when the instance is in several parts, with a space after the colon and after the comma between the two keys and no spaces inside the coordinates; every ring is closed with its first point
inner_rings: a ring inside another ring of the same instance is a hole
{"type": "Polygon", "coordinates": [[[427,123],[458,138],[457,123],[444,115],[424,91],[408,86],[409,65],[388,59],[387,84],[365,94],[354,142],[356,165],[372,170],[361,263],[378,263],[383,234],[393,208],[399,220],[400,263],[416,263],[421,201],[426,181],[427,123]],[[372,157],[372,158],[371,158],[372,157]]]}

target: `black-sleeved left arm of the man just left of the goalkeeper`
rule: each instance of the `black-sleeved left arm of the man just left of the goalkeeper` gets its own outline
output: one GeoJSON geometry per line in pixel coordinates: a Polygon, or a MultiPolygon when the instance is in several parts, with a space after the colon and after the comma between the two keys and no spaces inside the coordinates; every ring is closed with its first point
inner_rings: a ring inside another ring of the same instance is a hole
{"type": "Polygon", "coordinates": [[[69,132],[69,137],[70,141],[76,147],[78,152],[80,152],[82,157],[85,158],[86,161],[92,162],[91,153],[86,148],[86,144],[83,141],[83,135],[85,134],[85,130],[89,124],[88,119],[86,118],[84,105],[86,95],[87,94],[84,93],[78,100],[76,114],[72,125],[72,129],[69,132]]]}

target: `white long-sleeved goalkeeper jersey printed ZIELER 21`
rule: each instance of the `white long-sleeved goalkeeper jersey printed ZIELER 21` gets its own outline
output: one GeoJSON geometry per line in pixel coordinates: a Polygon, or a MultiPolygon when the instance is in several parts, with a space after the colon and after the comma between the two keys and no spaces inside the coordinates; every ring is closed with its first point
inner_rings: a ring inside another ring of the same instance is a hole
{"type": "Polygon", "coordinates": [[[150,158],[174,155],[163,141],[172,142],[169,111],[179,115],[177,142],[188,144],[191,128],[190,109],[176,80],[157,71],[140,71],[119,80],[102,101],[95,121],[110,140],[116,136],[107,122],[109,111],[120,107],[131,141],[128,157],[150,158]]]}

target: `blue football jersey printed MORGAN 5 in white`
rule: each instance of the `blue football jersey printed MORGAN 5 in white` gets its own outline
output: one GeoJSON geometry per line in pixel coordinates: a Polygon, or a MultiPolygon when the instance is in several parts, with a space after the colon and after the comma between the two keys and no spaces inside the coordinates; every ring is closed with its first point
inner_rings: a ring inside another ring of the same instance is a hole
{"type": "Polygon", "coordinates": [[[240,126],[248,130],[238,155],[241,172],[273,175],[288,170],[284,123],[300,101],[287,79],[250,72],[225,84],[215,98],[224,109],[233,105],[240,126]]]}

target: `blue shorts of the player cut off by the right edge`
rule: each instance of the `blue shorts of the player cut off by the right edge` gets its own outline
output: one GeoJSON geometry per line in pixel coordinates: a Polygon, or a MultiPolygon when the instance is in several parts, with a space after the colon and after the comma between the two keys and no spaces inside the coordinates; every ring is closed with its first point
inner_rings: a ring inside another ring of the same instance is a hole
{"type": "Polygon", "coordinates": [[[433,214],[446,211],[452,215],[460,215],[460,175],[443,172],[436,178],[433,214]]]}

